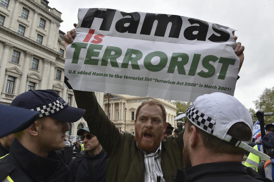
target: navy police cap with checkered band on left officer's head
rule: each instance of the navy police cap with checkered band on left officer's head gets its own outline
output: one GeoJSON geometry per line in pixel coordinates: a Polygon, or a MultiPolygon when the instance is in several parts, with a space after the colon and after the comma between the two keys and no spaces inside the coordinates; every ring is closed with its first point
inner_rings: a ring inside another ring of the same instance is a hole
{"type": "Polygon", "coordinates": [[[84,114],[84,109],[68,106],[54,90],[29,90],[21,93],[11,105],[38,111],[39,117],[50,116],[64,122],[76,122],[84,114]]]}

